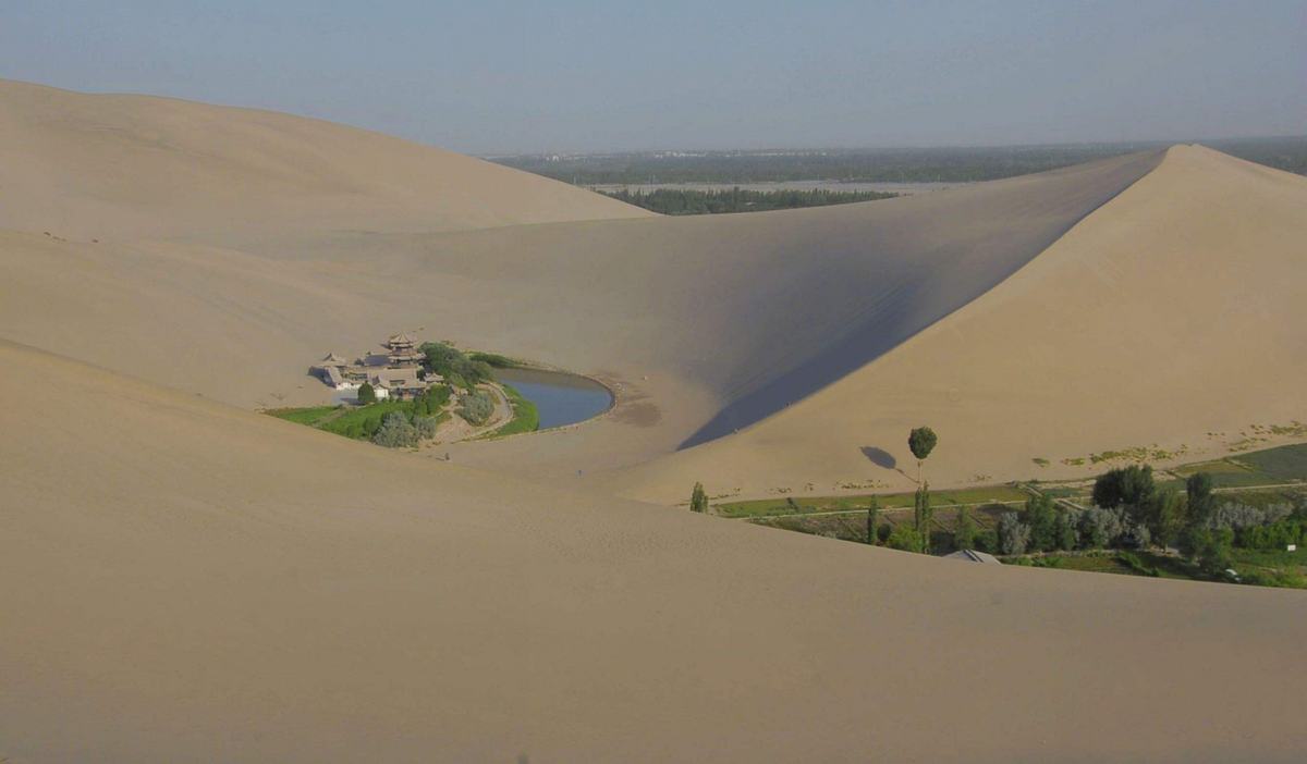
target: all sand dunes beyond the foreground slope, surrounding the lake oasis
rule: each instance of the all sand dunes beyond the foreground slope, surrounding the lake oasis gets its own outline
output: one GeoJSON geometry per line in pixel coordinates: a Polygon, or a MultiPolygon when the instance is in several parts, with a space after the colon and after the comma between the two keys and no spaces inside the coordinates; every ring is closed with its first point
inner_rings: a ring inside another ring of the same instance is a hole
{"type": "Polygon", "coordinates": [[[631,210],[284,115],[0,98],[0,337],[242,407],[325,401],[308,364],[396,329],[618,389],[601,421],[451,449],[463,464],[672,501],[694,481],[901,487],[923,422],[942,486],[1307,419],[1307,182],[1204,149],[825,209],[502,226],[631,210]],[[1268,371],[1230,374],[1248,363],[1268,371]]]}

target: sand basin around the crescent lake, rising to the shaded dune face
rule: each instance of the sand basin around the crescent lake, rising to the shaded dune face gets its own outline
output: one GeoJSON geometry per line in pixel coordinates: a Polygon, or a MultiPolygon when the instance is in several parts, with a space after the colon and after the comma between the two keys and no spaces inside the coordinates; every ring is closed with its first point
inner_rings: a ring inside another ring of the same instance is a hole
{"type": "Polygon", "coordinates": [[[0,234],[13,273],[0,319],[12,340],[242,406],[322,400],[322,388],[301,392],[310,363],[401,328],[603,375],[631,405],[609,422],[618,428],[544,449],[576,452],[583,464],[555,465],[575,473],[668,453],[819,390],[999,283],[1157,159],[712,218],[222,247],[0,234]]]}

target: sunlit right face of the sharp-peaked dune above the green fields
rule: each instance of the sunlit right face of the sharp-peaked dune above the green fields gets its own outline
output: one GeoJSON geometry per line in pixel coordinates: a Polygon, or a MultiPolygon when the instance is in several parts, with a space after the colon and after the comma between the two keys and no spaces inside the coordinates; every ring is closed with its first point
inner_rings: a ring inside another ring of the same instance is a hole
{"type": "Polygon", "coordinates": [[[936,485],[1090,474],[1104,469],[1094,453],[1157,445],[1193,461],[1244,443],[1253,424],[1307,422],[1304,213],[1304,178],[1172,148],[1016,276],[894,351],[748,432],[623,479],[667,499],[694,479],[754,492],[830,491],[859,475],[908,486],[907,432],[921,423],[941,435],[936,485]]]}

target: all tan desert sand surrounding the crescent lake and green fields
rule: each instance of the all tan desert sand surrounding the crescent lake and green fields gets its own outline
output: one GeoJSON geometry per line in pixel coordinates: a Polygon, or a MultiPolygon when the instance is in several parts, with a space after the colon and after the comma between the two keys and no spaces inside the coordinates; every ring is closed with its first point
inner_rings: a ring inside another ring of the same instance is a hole
{"type": "Polygon", "coordinates": [[[1302,757],[1299,592],[665,504],[903,485],[863,449],[923,422],[942,486],[1291,419],[1307,180],[1180,146],[660,218],[286,115],[0,101],[0,756],[1302,757]],[[397,329],[617,406],[452,464],[254,413],[397,329]]]}

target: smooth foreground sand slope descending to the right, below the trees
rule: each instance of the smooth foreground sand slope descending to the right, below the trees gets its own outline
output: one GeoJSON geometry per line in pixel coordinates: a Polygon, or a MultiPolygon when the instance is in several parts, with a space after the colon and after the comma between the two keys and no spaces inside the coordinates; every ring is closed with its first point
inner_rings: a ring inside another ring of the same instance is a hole
{"type": "Polygon", "coordinates": [[[0,363],[25,402],[0,409],[10,760],[1303,754],[1297,592],[868,550],[433,465],[8,342],[0,363]]]}

